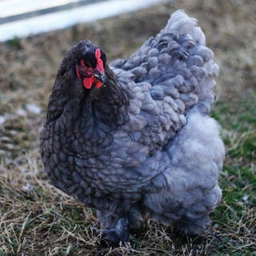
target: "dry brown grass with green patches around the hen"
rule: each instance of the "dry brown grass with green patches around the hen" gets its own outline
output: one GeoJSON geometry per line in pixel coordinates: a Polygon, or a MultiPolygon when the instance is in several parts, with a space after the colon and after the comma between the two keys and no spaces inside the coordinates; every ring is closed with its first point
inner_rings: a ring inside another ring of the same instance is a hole
{"type": "Polygon", "coordinates": [[[182,0],[0,44],[0,255],[256,255],[256,5],[254,0],[182,0]],[[94,210],[50,186],[38,132],[58,64],[90,38],[110,60],[128,57],[184,9],[206,33],[220,66],[213,116],[226,160],[222,204],[206,234],[191,238],[146,221],[130,243],[101,248],[94,210]]]}

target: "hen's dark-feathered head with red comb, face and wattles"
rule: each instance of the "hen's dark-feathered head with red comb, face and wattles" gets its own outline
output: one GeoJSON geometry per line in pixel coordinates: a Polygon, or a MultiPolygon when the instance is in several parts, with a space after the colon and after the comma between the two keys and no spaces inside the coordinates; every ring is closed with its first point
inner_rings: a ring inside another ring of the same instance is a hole
{"type": "Polygon", "coordinates": [[[90,41],[78,43],[75,70],[86,89],[100,88],[106,82],[106,54],[90,41]]]}

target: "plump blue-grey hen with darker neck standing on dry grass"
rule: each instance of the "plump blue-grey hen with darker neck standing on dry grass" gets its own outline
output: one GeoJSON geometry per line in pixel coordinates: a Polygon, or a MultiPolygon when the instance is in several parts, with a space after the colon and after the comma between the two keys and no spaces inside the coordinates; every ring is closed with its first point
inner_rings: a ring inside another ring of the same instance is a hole
{"type": "Polygon", "coordinates": [[[129,239],[142,216],[199,234],[222,192],[224,146],[209,117],[218,66],[194,18],[176,11],[108,66],[88,40],[59,67],[41,131],[51,182],[97,210],[102,237],[129,239]]]}

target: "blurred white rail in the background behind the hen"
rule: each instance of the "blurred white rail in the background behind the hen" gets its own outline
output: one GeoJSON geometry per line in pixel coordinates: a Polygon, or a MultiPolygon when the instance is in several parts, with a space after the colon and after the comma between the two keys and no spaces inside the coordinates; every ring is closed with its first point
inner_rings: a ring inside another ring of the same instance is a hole
{"type": "Polygon", "coordinates": [[[0,1],[0,41],[139,10],[161,0],[0,1]]]}

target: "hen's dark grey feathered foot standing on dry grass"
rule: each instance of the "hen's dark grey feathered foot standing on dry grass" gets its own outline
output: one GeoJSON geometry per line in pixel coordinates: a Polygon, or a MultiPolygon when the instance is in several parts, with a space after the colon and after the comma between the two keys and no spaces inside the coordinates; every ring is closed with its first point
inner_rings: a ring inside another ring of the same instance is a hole
{"type": "Polygon", "coordinates": [[[102,239],[110,245],[118,245],[119,242],[127,242],[129,239],[129,220],[119,218],[117,225],[113,229],[94,228],[96,234],[102,234],[102,239]]]}

